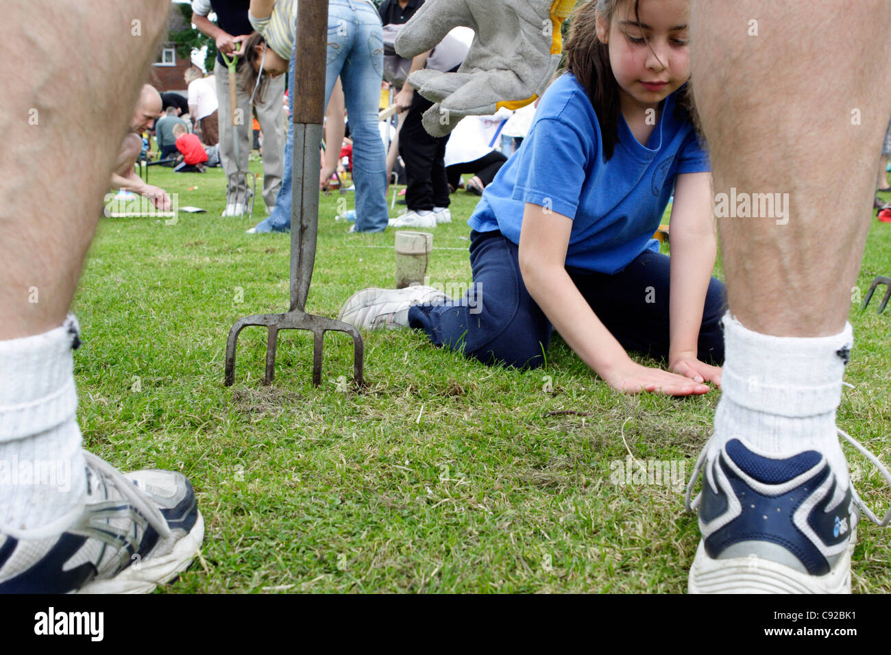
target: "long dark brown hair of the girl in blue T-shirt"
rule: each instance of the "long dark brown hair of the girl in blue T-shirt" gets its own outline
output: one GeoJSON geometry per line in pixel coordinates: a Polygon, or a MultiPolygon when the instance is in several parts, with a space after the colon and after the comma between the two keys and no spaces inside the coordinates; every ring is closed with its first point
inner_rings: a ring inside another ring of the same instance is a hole
{"type": "MultiPolygon", "coordinates": [[[[616,149],[620,110],[618,82],[609,63],[609,45],[597,37],[597,13],[601,20],[613,20],[619,0],[588,0],[579,4],[569,17],[569,34],[563,52],[564,68],[576,76],[591,100],[601,124],[603,160],[608,161],[616,149]]],[[[640,21],[641,0],[634,0],[634,16],[640,21]]],[[[690,81],[677,91],[674,114],[677,119],[690,119],[699,129],[690,81]]]]}

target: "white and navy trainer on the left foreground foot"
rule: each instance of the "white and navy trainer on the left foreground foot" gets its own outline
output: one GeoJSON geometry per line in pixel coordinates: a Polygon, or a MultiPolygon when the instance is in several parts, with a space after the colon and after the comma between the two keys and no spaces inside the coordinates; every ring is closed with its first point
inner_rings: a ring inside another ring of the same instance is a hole
{"type": "Polygon", "coordinates": [[[139,594],[188,568],[204,538],[192,485],[86,459],[86,499],[36,530],[0,528],[0,593],[139,594]]]}

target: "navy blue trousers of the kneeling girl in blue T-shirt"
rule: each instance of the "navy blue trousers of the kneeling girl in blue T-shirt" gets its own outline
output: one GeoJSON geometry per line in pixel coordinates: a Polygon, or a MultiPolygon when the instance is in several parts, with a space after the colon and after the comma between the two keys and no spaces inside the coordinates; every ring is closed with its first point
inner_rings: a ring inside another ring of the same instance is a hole
{"type": "MultiPolygon", "coordinates": [[[[471,232],[470,290],[463,299],[446,305],[409,308],[409,326],[427,332],[435,345],[484,364],[517,368],[544,364],[552,324],[526,290],[518,252],[517,245],[500,232],[471,232]]],[[[567,272],[623,348],[667,358],[671,270],[666,255],[644,250],[614,275],[570,268],[567,272]]],[[[723,282],[713,277],[703,307],[697,354],[708,364],[723,363],[721,317],[726,305],[723,282]]]]}

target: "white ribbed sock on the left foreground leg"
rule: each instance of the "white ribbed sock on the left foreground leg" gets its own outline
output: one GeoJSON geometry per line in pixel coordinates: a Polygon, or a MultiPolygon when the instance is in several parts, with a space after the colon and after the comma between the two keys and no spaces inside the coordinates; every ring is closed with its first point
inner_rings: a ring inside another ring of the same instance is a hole
{"type": "Polygon", "coordinates": [[[0,340],[0,526],[41,528],[83,502],[77,335],[69,315],[50,332],[0,340]]]}

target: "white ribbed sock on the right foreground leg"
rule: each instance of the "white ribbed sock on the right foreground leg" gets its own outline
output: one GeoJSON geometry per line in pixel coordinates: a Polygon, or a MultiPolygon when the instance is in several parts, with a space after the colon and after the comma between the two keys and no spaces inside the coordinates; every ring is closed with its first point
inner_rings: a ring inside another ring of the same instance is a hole
{"type": "MultiPolygon", "coordinates": [[[[715,435],[789,456],[814,449],[846,471],[836,432],[842,377],[854,344],[851,323],[832,337],[772,337],[723,317],[724,365],[715,435]]],[[[842,476],[845,477],[845,476],[842,476]]]]}

